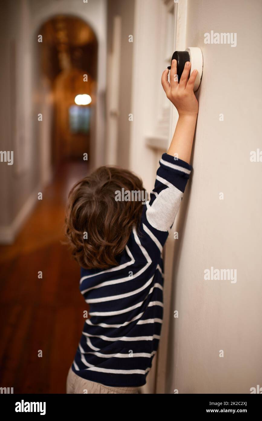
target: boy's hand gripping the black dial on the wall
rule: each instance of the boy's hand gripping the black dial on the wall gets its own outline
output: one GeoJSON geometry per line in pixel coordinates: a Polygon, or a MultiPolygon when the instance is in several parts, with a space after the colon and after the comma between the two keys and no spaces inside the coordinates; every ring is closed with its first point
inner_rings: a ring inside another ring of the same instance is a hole
{"type": "Polygon", "coordinates": [[[196,80],[197,70],[195,69],[189,77],[189,70],[191,67],[190,61],[187,61],[183,69],[183,73],[178,83],[176,59],[172,60],[170,70],[170,83],[168,82],[168,69],[165,69],[162,74],[162,87],[168,99],[174,104],[181,115],[197,115],[198,102],[195,97],[193,88],[196,80]],[[171,86],[170,86],[171,84],[171,86]]]}

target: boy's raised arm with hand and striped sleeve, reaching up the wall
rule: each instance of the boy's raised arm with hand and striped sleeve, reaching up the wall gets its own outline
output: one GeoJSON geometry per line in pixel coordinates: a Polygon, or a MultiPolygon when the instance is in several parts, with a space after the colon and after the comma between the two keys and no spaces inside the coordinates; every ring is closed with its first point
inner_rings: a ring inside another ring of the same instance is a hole
{"type": "Polygon", "coordinates": [[[163,88],[168,99],[178,110],[179,118],[168,153],[163,154],[160,159],[155,187],[141,218],[141,231],[144,232],[141,243],[147,248],[152,259],[153,256],[162,253],[192,169],[189,162],[198,102],[193,91],[197,71],[192,72],[188,80],[190,65],[185,65],[179,83],[176,81],[176,60],[171,64],[170,84],[168,69],[162,75],[163,88]]]}

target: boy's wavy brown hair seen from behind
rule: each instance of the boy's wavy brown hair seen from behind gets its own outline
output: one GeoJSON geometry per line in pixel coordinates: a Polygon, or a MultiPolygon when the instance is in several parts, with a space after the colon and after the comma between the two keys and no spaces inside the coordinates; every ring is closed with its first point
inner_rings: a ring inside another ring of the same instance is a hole
{"type": "Polygon", "coordinates": [[[115,192],[122,188],[144,190],[131,171],[103,166],[75,184],[68,195],[65,235],[73,257],[85,269],[116,266],[132,227],[139,227],[142,202],[116,201],[115,192]]]}

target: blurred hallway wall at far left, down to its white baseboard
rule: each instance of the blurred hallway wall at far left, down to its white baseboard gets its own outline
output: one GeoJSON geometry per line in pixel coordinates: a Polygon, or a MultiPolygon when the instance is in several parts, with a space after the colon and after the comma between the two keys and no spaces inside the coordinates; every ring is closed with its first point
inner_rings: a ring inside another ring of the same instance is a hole
{"type": "Polygon", "coordinates": [[[39,191],[39,144],[31,108],[30,11],[26,0],[3,3],[1,16],[1,150],[13,165],[0,163],[0,242],[12,242],[39,191]]]}

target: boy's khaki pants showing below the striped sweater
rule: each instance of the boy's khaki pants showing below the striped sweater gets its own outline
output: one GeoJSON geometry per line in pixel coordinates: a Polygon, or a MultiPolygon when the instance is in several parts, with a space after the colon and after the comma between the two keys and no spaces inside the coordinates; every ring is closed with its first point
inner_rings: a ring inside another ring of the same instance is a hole
{"type": "Polygon", "coordinates": [[[139,387],[110,387],[77,376],[70,367],[66,379],[66,393],[140,393],[139,387]]]}

